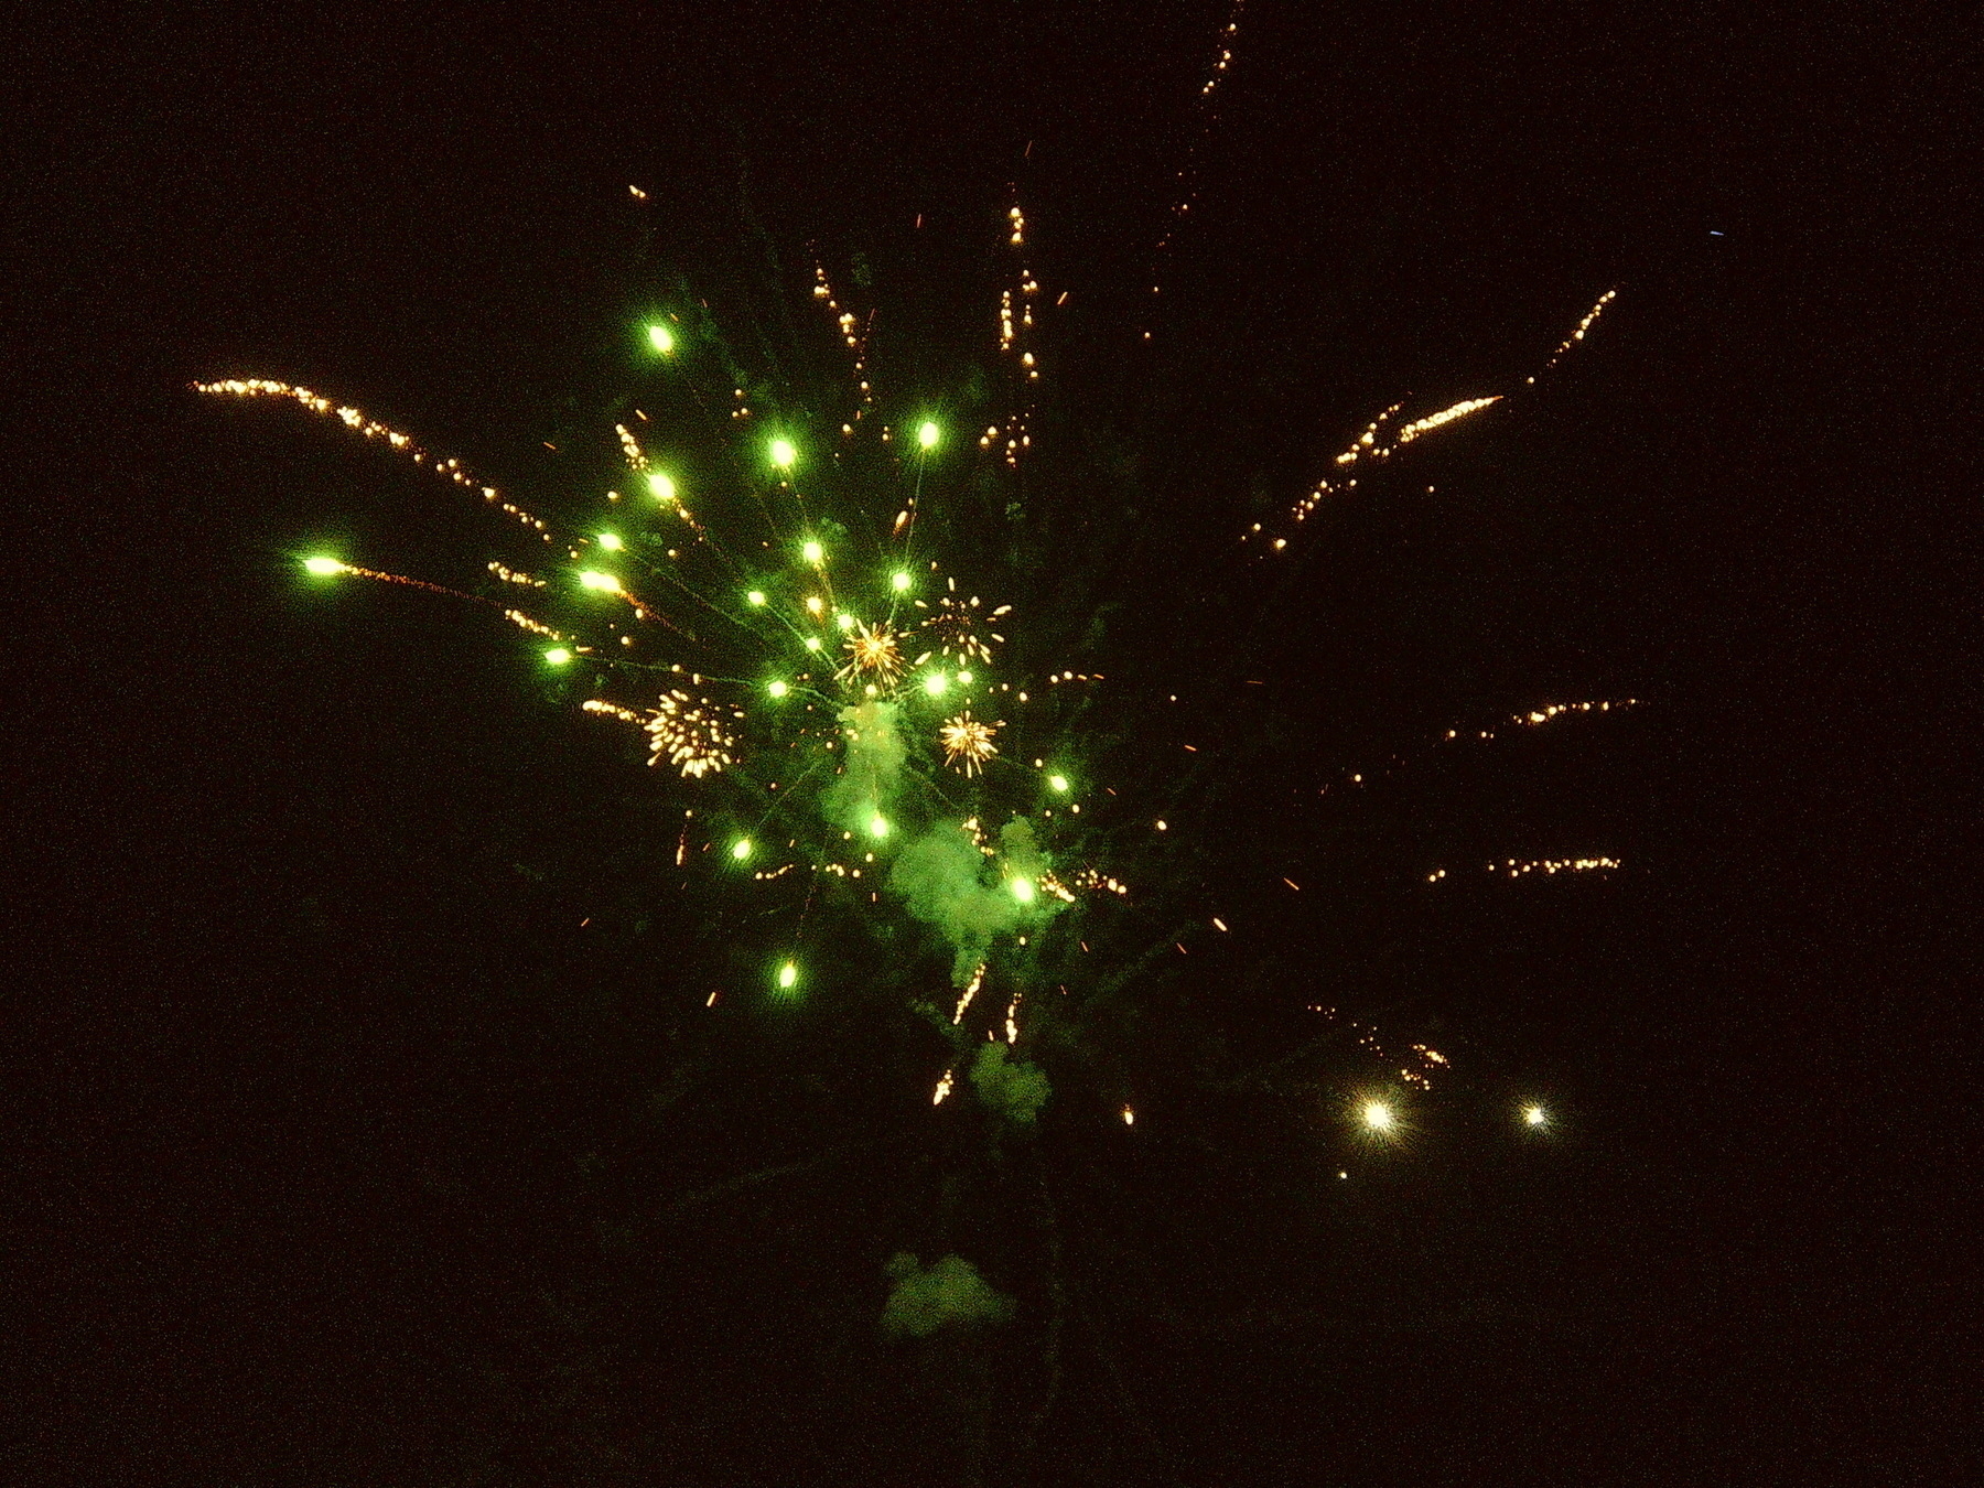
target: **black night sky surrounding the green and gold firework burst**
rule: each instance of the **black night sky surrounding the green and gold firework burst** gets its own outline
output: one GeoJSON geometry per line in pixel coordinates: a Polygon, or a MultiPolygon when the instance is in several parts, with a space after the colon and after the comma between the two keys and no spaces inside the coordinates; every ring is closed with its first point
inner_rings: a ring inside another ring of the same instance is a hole
{"type": "Polygon", "coordinates": [[[1194,109],[1218,4],[179,10],[8,63],[0,1480],[1962,1480],[1962,50],[1256,0],[1194,109]],[[994,1161],[901,1032],[704,1010],[750,911],[655,871],[673,780],[518,637],[300,581],[472,571],[480,512],[186,385],[556,492],[677,284],[809,343],[817,252],[940,397],[1014,186],[1067,292],[1044,490],[1097,514],[1030,603],[1190,843],[1125,877],[1234,934],[994,1161]],[[1234,558],[1611,288],[1272,583],[1234,558]],[[1151,768],[1169,690],[1230,764],[1151,768]],[[1587,853],[1625,869],[1423,883],[1587,853]],[[1317,1002],[1454,1057],[1409,1145],[1347,1133],[1347,1048],[1206,1077],[1317,1002]],[[897,1250],[1018,1317],[885,1339],[897,1250]]]}

